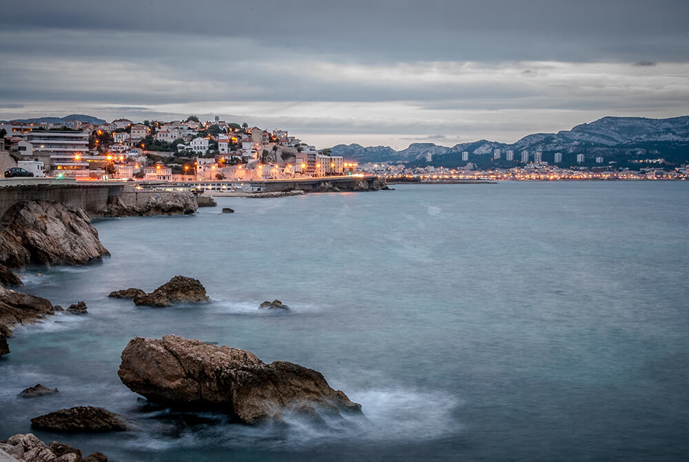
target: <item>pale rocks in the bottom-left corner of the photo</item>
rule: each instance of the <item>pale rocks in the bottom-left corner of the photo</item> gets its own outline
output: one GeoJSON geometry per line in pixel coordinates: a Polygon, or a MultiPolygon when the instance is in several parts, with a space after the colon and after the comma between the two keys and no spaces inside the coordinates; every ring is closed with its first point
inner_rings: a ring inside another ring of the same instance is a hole
{"type": "Polygon", "coordinates": [[[0,441],[1,455],[6,452],[12,461],[24,462],[107,462],[107,457],[100,452],[94,452],[82,458],[81,451],[58,441],[50,441],[46,445],[33,433],[15,434],[5,441],[0,441]]]}

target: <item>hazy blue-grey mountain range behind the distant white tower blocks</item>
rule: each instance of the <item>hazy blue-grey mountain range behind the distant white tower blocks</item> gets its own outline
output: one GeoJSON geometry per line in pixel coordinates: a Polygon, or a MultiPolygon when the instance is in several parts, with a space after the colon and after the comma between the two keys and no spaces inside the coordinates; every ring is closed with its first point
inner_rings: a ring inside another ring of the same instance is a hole
{"type": "Polygon", "coordinates": [[[564,163],[575,159],[575,154],[586,157],[672,157],[675,161],[689,161],[689,116],[670,119],[644,117],[603,117],[591,123],[582,123],[557,133],[530,134],[515,143],[497,143],[480,140],[460,143],[451,148],[435,143],[413,143],[409,148],[395,151],[388,146],[364,148],[358,144],[337,145],[333,154],[362,162],[404,162],[424,164],[431,154],[432,165],[459,165],[461,153],[469,152],[469,161],[491,161],[493,151],[501,149],[502,160],[507,150],[514,151],[515,161],[522,151],[543,152],[544,160],[555,152],[562,152],[564,163]]]}

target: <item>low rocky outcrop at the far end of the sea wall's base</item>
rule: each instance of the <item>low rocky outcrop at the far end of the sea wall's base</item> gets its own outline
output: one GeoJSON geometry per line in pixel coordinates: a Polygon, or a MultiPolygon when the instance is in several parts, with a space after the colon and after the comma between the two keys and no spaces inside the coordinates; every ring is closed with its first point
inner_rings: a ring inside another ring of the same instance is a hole
{"type": "MultiPolygon", "coordinates": [[[[134,193],[124,193],[134,194],[134,193]]],[[[132,217],[138,215],[190,215],[198,209],[194,194],[188,191],[145,191],[136,194],[148,196],[146,201],[128,203],[121,197],[109,197],[103,210],[105,217],[132,217]],[[143,202],[143,203],[142,203],[143,202]]]]}

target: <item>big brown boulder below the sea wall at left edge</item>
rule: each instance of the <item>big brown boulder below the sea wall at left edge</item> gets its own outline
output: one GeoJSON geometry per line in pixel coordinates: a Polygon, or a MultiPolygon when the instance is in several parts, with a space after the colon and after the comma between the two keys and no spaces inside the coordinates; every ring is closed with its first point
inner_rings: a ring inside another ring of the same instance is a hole
{"type": "Polygon", "coordinates": [[[84,265],[110,255],[86,212],[48,201],[19,202],[0,221],[0,263],[84,265]]]}

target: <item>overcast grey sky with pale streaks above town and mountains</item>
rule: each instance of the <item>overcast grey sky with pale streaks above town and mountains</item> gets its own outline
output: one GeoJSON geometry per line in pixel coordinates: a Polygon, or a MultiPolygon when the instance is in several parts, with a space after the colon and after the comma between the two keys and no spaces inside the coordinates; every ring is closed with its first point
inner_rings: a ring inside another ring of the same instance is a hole
{"type": "Polygon", "coordinates": [[[2,16],[0,119],[217,114],[401,149],[689,114],[686,0],[32,0],[2,16]]]}

